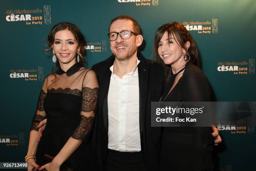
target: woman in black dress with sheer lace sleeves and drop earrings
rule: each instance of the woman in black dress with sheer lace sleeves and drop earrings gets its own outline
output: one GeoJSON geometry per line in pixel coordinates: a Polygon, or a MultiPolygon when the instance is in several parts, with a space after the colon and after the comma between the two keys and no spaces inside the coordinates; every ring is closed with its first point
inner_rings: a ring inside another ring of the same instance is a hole
{"type": "Polygon", "coordinates": [[[56,24],[49,33],[48,46],[59,69],[46,77],[41,89],[25,158],[28,171],[95,170],[89,137],[99,85],[95,72],[83,66],[85,45],[74,24],[56,24]],[[37,143],[37,125],[45,118],[46,127],[37,143]],[[54,159],[40,168],[45,155],[54,159]]]}

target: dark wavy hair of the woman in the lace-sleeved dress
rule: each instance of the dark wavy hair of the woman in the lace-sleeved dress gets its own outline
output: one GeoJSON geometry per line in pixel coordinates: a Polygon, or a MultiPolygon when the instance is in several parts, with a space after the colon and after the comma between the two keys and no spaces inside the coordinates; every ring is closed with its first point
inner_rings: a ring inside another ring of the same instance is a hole
{"type": "MultiPolygon", "coordinates": [[[[58,31],[62,31],[62,30],[69,30],[73,33],[77,44],[80,48],[79,51],[79,63],[83,64],[84,63],[84,56],[85,56],[85,49],[84,46],[86,46],[86,41],[84,40],[84,36],[82,34],[82,32],[77,28],[76,25],[72,24],[72,23],[68,23],[68,22],[61,22],[58,23],[56,25],[54,25],[51,28],[51,31],[48,34],[48,39],[47,39],[47,46],[49,46],[49,49],[46,50],[51,50],[52,51],[52,47],[54,44],[54,36],[58,31]]],[[[56,69],[56,67],[59,67],[59,61],[57,59],[56,61],[56,66],[54,67],[53,71],[56,69]]]]}

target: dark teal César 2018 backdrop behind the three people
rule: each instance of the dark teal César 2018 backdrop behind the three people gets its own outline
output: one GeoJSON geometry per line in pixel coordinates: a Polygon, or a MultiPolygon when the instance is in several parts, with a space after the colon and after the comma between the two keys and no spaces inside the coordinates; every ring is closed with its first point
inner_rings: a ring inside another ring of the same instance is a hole
{"type": "MultiPolygon", "coordinates": [[[[217,101],[256,101],[255,0],[2,0],[0,162],[23,162],[31,120],[44,78],[54,64],[47,35],[56,23],[74,23],[84,34],[87,67],[112,53],[108,26],[118,15],[140,24],[142,54],[151,59],[154,34],[164,23],[183,23],[195,39],[201,68],[217,101]]],[[[218,125],[215,147],[220,171],[255,171],[254,128],[218,125]],[[232,128],[232,130],[231,130],[232,128]]],[[[175,154],[174,154],[175,155],[175,154]]]]}

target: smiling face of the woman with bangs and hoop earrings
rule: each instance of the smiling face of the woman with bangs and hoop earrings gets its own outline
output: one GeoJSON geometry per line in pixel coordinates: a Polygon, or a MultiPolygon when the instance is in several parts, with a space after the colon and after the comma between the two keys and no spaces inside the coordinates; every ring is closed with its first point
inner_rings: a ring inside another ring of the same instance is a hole
{"type": "Polygon", "coordinates": [[[173,34],[168,37],[166,31],[158,43],[158,54],[161,59],[163,59],[164,64],[182,64],[181,56],[185,50],[176,42],[176,40],[177,38],[173,34]]]}

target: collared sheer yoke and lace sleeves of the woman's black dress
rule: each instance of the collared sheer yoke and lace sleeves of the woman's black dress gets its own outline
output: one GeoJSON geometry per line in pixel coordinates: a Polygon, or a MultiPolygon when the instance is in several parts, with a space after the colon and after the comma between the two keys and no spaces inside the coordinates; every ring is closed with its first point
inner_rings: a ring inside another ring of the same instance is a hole
{"type": "Polygon", "coordinates": [[[95,72],[78,63],[69,68],[67,72],[59,69],[56,73],[50,74],[44,80],[31,130],[38,130],[36,128],[38,123],[46,117],[44,100],[49,93],[72,94],[81,97],[80,123],[74,130],[72,137],[83,140],[92,129],[99,92],[98,87],[95,72]]]}

